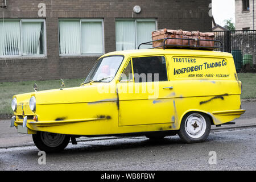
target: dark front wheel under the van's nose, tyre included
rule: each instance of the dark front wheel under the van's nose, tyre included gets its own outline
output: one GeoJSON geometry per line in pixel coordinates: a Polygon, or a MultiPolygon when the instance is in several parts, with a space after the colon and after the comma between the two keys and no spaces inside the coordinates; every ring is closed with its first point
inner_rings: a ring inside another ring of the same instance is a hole
{"type": "Polygon", "coordinates": [[[67,147],[70,137],[64,134],[38,131],[32,135],[33,141],[39,150],[45,152],[59,152],[67,147]]]}

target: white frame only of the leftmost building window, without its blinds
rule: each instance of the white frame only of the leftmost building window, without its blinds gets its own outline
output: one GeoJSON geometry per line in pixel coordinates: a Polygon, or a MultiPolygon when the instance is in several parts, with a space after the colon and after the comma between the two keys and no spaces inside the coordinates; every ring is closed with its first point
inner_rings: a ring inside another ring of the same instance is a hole
{"type": "Polygon", "coordinates": [[[20,27],[20,54],[19,55],[7,55],[7,56],[0,56],[1,58],[15,58],[15,57],[46,57],[47,56],[47,47],[46,47],[46,19],[1,19],[1,22],[5,22],[5,21],[15,21],[18,22],[19,21],[19,27],[20,27]],[[43,47],[43,54],[41,55],[23,55],[23,46],[22,46],[22,22],[43,22],[43,40],[44,40],[44,47],[43,47]]]}

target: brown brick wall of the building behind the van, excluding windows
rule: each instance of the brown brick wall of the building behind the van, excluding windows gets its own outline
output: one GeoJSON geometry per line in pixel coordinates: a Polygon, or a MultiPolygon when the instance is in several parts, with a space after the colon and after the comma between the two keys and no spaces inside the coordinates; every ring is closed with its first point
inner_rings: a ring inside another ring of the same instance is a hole
{"type": "Polygon", "coordinates": [[[46,4],[47,56],[0,58],[0,81],[85,78],[88,75],[98,57],[59,56],[59,18],[104,18],[105,53],[115,51],[115,18],[156,18],[158,29],[205,32],[212,28],[208,15],[210,0],[7,0],[7,8],[0,9],[0,18],[39,18],[39,3],[46,4]],[[133,13],[135,5],[141,6],[141,13],[133,13]]]}

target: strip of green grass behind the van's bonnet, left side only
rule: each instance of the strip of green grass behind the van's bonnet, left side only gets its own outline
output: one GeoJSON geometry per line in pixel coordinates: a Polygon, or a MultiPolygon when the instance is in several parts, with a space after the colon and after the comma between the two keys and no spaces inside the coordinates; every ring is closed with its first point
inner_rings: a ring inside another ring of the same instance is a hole
{"type": "MultiPolygon", "coordinates": [[[[65,88],[80,86],[84,78],[64,79],[65,88]]],[[[60,80],[45,81],[20,81],[20,82],[0,82],[0,114],[12,114],[11,100],[15,94],[34,92],[33,85],[38,85],[38,90],[58,89],[60,80]]]]}

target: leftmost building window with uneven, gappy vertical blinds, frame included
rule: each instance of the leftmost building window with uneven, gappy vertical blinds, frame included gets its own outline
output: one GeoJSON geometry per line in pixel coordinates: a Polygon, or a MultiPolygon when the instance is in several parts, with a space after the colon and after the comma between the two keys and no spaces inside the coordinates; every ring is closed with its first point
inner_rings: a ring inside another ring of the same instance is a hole
{"type": "Polygon", "coordinates": [[[44,55],[44,20],[1,20],[0,56],[44,55]]]}

